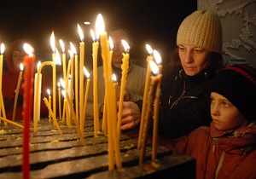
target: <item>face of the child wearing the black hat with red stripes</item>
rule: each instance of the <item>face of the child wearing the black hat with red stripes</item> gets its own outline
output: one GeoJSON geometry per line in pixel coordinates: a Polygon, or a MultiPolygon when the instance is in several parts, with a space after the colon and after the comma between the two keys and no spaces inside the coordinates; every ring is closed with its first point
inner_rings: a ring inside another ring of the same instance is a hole
{"type": "Polygon", "coordinates": [[[211,93],[212,122],[218,130],[234,130],[247,126],[248,121],[223,95],[211,93]]]}

